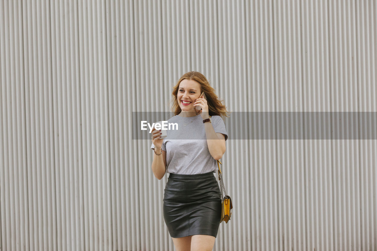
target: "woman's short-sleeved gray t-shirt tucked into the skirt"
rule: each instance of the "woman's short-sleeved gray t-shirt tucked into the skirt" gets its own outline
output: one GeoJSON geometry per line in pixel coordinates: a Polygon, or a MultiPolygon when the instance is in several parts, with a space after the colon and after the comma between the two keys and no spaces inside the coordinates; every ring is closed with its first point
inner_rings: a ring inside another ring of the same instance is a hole
{"type": "MultiPolygon", "coordinates": [[[[200,174],[218,170],[217,162],[208,150],[203,118],[200,115],[176,115],[168,123],[177,123],[178,130],[168,130],[162,143],[162,150],[166,151],[167,173],[200,174]]],[[[224,134],[227,140],[228,134],[221,116],[211,116],[211,123],[215,132],[224,134]]],[[[153,148],[155,146],[152,144],[151,149],[153,148]]]]}

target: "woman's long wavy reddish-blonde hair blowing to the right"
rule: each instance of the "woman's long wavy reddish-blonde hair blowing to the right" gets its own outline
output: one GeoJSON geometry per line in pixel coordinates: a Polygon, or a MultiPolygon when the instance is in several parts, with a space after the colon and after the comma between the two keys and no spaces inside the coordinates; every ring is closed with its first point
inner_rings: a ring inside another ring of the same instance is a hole
{"type": "Polygon", "coordinates": [[[179,84],[184,79],[194,80],[200,84],[200,93],[205,93],[205,98],[207,99],[208,104],[208,113],[210,116],[218,115],[222,118],[229,117],[230,112],[228,112],[225,105],[222,104],[224,100],[219,100],[218,96],[215,94],[215,89],[210,86],[207,78],[205,78],[204,75],[200,72],[187,72],[183,74],[182,77],[179,78],[177,84],[173,87],[173,99],[171,100],[171,102],[172,112],[174,112],[174,115],[178,115],[182,111],[177,101],[177,95],[179,84]]]}

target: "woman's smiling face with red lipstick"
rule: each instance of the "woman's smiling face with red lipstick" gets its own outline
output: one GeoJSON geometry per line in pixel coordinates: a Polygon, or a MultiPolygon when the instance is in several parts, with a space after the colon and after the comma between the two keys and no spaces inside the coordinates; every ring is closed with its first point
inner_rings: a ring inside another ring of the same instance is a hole
{"type": "Polygon", "coordinates": [[[179,83],[177,101],[184,112],[194,111],[195,99],[200,96],[200,84],[195,80],[184,79],[179,83]]]}

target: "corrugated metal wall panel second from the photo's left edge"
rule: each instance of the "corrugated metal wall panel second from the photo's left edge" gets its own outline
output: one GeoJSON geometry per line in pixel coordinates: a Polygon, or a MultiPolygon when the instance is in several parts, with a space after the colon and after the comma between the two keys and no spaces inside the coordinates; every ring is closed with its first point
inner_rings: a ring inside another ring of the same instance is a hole
{"type": "Polygon", "coordinates": [[[57,246],[49,11],[49,2],[23,2],[29,250],[57,246]]]}

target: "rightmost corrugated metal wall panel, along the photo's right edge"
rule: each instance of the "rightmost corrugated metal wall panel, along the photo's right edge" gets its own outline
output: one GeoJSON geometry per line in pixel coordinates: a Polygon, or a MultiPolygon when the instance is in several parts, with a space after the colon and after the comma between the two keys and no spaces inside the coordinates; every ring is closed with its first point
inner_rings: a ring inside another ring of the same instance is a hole
{"type": "MultiPolygon", "coordinates": [[[[377,32],[376,14],[377,5],[375,2],[355,1],[356,11],[356,39],[357,39],[357,84],[358,84],[358,106],[360,112],[377,112],[376,106],[376,80],[375,70],[377,62],[377,32]]],[[[360,114],[360,123],[366,119],[360,114]]],[[[369,128],[370,131],[377,131],[377,121],[374,121],[369,128]]],[[[365,127],[360,127],[360,135],[368,133],[365,127]]],[[[377,194],[377,171],[374,168],[377,162],[376,140],[360,140],[360,221],[361,221],[361,246],[362,250],[373,250],[377,246],[375,238],[377,233],[377,217],[375,215],[377,194]]]]}

